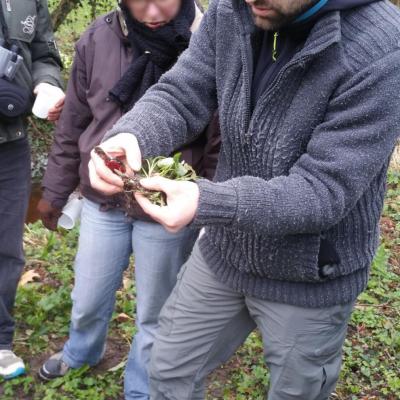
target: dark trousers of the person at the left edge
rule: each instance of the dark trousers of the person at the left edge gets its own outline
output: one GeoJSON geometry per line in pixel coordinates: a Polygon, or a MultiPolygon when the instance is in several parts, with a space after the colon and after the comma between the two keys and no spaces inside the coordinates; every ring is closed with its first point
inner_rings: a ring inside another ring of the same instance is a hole
{"type": "Polygon", "coordinates": [[[0,144],[0,350],[11,349],[12,316],[24,267],[22,235],[31,182],[28,139],[0,144]]]}

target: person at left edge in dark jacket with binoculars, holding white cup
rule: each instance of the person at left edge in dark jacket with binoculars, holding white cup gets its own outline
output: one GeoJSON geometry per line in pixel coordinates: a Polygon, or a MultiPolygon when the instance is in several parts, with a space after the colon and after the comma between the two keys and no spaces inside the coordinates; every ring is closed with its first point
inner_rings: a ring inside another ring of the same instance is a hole
{"type": "MultiPolygon", "coordinates": [[[[13,378],[25,372],[22,359],[12,352],[12,309],[24,266],[22,235],[30,192],[26,118],[35,94],[49,85],[62,87],[47,0],[0,0],[0,46],[0,376],[13,378]],[[13,67],[15,74],[10,73],[13,67]]],[[[61,98],[48,119],[57,120],[62,106],[61,98]]]]}

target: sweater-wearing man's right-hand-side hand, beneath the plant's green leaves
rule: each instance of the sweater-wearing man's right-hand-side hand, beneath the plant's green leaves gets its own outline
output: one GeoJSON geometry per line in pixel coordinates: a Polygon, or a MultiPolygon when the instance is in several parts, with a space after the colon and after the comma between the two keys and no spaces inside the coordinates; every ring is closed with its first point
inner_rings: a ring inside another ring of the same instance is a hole
{"type": "Polygon", "coordinates": [[[135,197],[144,212],[150,215],[170,232],[178,232],[190,224],[196,214],[199,203],[199,187],[193,182],[172,181],[162,177],[142,179],[146,189],[164,192],[167,206],[152,204],[146,197],[136,193],[135,197]]]}

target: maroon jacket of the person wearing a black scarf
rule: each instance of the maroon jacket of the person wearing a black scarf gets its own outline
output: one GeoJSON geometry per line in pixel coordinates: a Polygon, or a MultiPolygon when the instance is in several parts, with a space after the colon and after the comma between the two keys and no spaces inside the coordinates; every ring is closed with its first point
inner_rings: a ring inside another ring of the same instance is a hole
{"type": "MultiPolygon", "coordinates": [[[[123,204],[121,195],[109,197],[92,189],[88,163],[91,150],[122,116],[120,107],[109,101],[108,92],[137,50],[128,45],[118,11],[98,18],[82,35],[75,50],[65,105],[42,182],[43,198],[53,207],[62,208],[79,186],[89,200],[105,208],[118,207],[123,204]]],[[[217,119],[196,142],[179,151],[200,175],[212,178],[219,152],[217,119]]],[[[143,217],[142,212],[136,211],[138,215],[134,216],[143,217]]]]}

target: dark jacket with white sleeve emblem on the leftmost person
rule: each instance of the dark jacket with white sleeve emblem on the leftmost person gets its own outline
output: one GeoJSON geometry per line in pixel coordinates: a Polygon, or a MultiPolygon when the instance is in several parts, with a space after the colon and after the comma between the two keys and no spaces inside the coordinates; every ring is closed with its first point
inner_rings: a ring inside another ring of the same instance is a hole
{"type": "MultiPolygon", "coordinates": [[[[61,59],[54,41],[47,0],[0,0],[0,5],[3,7],[10,41],[18,45],[24,59],[15,81],[31,93],[40,82],[62,87],[61,59]]],[[[25,117],[12,122],[0,118],[0,145],[24,136],[25,117]]]]}

